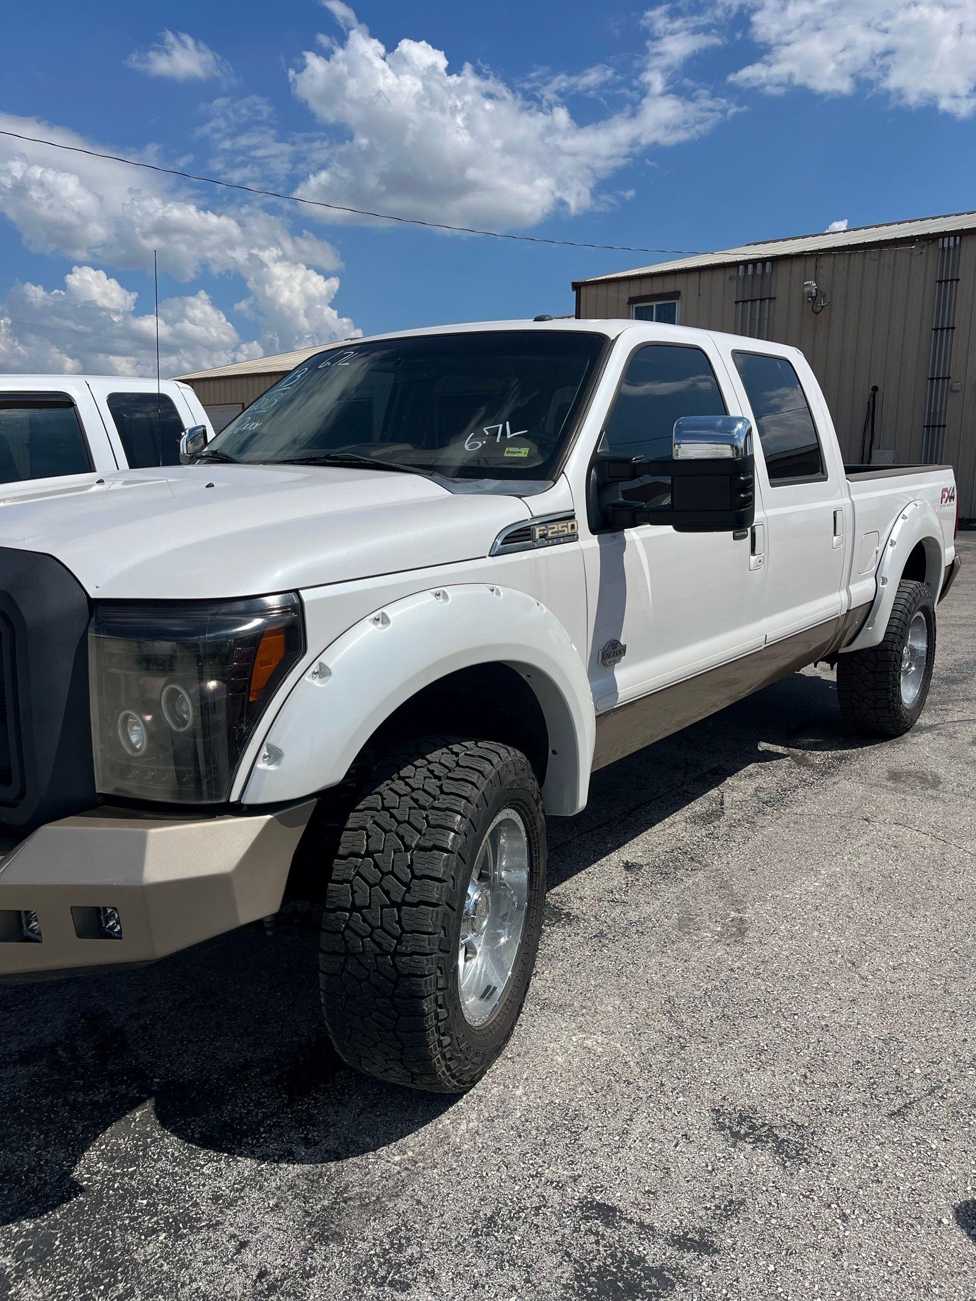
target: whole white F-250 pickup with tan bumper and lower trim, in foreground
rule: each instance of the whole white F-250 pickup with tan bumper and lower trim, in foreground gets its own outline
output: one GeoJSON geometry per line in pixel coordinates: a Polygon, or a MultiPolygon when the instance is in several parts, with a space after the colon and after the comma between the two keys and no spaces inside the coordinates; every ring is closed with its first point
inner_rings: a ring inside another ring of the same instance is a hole
{"type": "Polygon", "coordinates": [[[338,1053],[463,1090],[526,997],[545,816],[595,769],[816,661],[855,727],[924,705],[953,472],[845,467],[795,349],[377,337],[194,453],[0,513],[8,977],[311,898],[338,1053]]]}

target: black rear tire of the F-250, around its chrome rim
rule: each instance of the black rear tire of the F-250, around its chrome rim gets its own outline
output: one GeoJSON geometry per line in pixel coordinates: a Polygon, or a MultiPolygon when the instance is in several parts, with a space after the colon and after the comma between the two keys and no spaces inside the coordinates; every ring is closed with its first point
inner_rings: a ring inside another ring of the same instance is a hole
{"type": "Polygon", "coordinates": [[[837,660],[837,696],[841,712],[852,727],[872,736],[902,736],[925,705],[936,658],[936,604],[924,583],[903,579],[898,584],[888,628],[881,643],[852,650],[837,660]],[[902,693],[902,657],[912,619],[921,613],[928,632],[925,669],[915,699],[902,693]]]}

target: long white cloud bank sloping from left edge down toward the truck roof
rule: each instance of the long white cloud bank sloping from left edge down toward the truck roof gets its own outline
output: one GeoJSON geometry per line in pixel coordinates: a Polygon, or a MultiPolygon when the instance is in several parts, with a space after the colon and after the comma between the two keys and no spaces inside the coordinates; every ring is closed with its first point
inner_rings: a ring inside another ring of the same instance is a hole
{"type": "MultiPolygon", "coordinates": [[[[0,126],[88,144],[34,120],[0,114],[0,126]]],[[[358,333],[332,306],[338,289],[332,245],[294,234],[258,207],[207,208],[164,177],[0,137],[0,213],[36,252],[146,269],[157,250],[160,271],[177,280],[204,271],[241,277],[265,353],[358,333]]]]}

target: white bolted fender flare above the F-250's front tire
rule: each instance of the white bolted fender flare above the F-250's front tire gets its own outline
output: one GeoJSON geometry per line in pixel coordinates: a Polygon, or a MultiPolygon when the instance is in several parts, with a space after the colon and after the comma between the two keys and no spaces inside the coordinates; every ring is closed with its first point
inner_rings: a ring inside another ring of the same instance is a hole
{"type": "MultiPolygon", "coordinates": [[[[545,809],[579,812],[596,735],[583,658],[544,605],[524,592],[484,583],[393,601],[306,661],[250,771],[238,773],[232,798],[269,804],[336,786],[400,705],[479,664],[509,665],[532,688],[549,732],[545,809]]],[[[432,731],[444,727],[444,719],[431,721],[432,731]]]]}

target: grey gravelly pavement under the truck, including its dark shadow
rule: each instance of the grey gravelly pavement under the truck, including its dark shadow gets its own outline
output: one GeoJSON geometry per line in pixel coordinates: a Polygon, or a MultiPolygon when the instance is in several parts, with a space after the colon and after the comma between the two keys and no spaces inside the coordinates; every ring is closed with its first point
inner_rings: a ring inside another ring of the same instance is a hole
{"type": "Polygon", "coordinates": [[[467,1097],[319,1028],[314,937],[0,989],[0,1296],[976,1297],[976,535],[906,738],[807,671],[550,827],[467,1097]]]}

